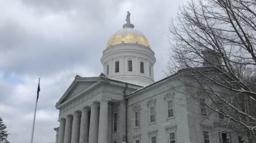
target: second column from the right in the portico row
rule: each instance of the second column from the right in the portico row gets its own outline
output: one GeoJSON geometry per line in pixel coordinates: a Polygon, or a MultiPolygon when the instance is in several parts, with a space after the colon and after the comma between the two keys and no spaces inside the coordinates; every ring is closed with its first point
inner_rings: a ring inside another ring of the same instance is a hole
{"type": "Polygon", "coordinates": [[[91,119],[89,127],[89,143],[98,142],[98,104],[93,103],[91,107],[91,119]]]}

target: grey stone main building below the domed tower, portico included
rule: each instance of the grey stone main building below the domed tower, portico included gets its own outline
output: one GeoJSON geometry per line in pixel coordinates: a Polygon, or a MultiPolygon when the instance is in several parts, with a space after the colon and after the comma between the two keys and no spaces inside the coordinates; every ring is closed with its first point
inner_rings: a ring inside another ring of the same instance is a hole
{"type": "Polygon", "coordinates": [[[132,143],[136,140],[150,142],[151,137],[155,136],[156,141],[161,143],[168,142],[169,133],[173,132],[176,142],[203,143],[203,131],[208,131],[211,142],[223,143],[222,133],[226,133],[230,142],[239,143],[239,133],[233,128],[221,131],[223,127],[215,127],[218,114],[202,117],[199,103],[177,92],[188,90],[178,82],[178,78],[177,74],[142,87],[106,77],[76,77],[56,105],[57,109],[64,110],[59,115],[60,127],[56,128],[56,140],[59,143],[121,143],[127,136],[127,142],[132,143]],[[87,85],[84,82],[89,82],[91,86],[80,88],[80,84],[87,85]],[[128,99],[127,117],[124,96],[128,99]],[[168,117],[168,101],[173,103],[171,117],[168,117]],[[152,113],[154,122],[150,121],[150,107],[155,109],[152,113]],[[135,126],[135,112],[139,114],[138,127],[135,126]]]}

